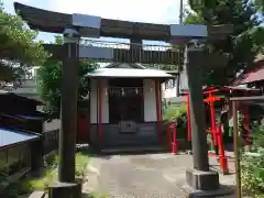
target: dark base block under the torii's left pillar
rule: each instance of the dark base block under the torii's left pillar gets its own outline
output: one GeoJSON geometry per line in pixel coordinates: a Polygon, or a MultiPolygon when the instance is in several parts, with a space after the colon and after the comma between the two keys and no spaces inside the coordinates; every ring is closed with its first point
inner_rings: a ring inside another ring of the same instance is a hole
{"type": "Polygon", "coordinates": [[[57,183],[48,187],[48,198],[81,198],[81,183],[57,183]]]}

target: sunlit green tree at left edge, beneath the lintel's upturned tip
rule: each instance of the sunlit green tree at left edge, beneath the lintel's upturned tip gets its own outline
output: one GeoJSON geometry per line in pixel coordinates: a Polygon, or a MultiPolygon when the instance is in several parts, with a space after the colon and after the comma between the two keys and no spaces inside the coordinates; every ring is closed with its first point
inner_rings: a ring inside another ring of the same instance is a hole
{"type": "MultiPolygon", "coordinates": [[[[32,65],[42,64],[47,54],[42,42],[35,41],[37,32],[31,31],[18,15],[4,11],[0,0],[0,82],[21,82],[21,77],[32,65]]],[[[16,85],[16,84],[15,84],[16,85]]]]}

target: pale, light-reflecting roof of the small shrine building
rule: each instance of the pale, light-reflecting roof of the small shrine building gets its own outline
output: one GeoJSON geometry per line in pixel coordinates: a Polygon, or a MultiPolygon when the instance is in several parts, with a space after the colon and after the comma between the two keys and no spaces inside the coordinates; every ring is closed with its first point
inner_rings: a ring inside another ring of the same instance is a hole
{"type": "Polygon", "coordinates": [[[99,68],[87,75],[90,78],[175,78],[158,69],[99,68]]]}

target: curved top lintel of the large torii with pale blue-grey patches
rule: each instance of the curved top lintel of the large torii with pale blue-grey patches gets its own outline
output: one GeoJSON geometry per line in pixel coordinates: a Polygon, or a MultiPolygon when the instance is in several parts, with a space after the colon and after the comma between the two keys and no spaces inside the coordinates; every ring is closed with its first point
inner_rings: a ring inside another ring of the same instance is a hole
{"type": "Polygon", "coordinates": [[[72,25],[78,29],[81,36],[88,37],[136,37],[177,43],[190,38],[219,40],[220,35],[223,37],[232,32],[231,25],[166,25],[130,22],[87,14],[52,12],[18,2],[14,2],[14,9],[31,29],[62,34],[66,26],[72,25]]]}

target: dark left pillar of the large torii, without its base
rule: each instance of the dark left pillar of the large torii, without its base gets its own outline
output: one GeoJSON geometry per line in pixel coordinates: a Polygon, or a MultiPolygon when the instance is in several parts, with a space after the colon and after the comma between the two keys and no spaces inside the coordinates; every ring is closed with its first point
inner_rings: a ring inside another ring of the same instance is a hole
{"type": "Polygon", "coordinates": [[[58,180],[75,183],[75,144],[77,131],[79,32],[64,31],[64,58],[59,131],[58,180]]]}

